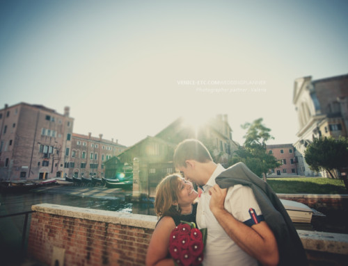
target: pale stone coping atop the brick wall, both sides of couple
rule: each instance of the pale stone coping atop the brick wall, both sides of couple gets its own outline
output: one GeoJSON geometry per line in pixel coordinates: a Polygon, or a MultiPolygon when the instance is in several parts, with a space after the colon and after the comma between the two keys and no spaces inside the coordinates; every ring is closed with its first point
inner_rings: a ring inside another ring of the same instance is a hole
{"type": "MultiPolygon", "coordinates": [[[[42,203],[33,205],[32,210],[40,213],[74,217],[78,219],[89,219],[98,222],[109,222],[113,224],[124,224],[141,228],[153,229],[157,223],[157,217],[151,215],[138,215],[132,213],[121,213],[110,210],[94,210],[62,206],[56,204],[42,203]]],[[[348,235],[340,233],[326,233],[317,231],[297,230],[307,250],[348,254],[348,235]]]]}

